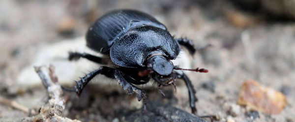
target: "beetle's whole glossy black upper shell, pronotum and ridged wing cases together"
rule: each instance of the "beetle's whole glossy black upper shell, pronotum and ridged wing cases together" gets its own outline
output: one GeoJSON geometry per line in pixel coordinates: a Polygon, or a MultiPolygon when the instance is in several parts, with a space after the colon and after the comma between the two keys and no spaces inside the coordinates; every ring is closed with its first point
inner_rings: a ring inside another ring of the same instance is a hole
{"type": "Polygon", "coordinates": [[[86,34],[87,46],[123,67],[142,67],[148,55],[158,51],[176,59],[179,44],[165,25],[143,12],[118,10],[96,20],[86,34]]]}

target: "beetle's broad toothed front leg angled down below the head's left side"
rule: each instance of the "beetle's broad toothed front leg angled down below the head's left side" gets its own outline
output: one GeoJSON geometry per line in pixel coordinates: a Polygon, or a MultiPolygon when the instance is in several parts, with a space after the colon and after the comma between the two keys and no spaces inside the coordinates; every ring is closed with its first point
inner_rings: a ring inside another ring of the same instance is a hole
{"type": "Polygon", "coordinates": [[[133,93],[135,93],[138,101],[141,101],[143,99],[143,102],[144,102],[143,108],[144,108],[144,110],[146,110],[146,104],[147,104],[147,100],[148,100],[146,92],[144,90],[141,90],[138,87],[134,86],[130,82],[126,81],[123,78],[123,75],[126,75],[126,74],[123,74],[123,72],[121,72],[119,70],[115,70],[114,76],[118,80],[119,85],[123,87],[123,90],[127,90],[128,95],[132,95],[133,93]]]}

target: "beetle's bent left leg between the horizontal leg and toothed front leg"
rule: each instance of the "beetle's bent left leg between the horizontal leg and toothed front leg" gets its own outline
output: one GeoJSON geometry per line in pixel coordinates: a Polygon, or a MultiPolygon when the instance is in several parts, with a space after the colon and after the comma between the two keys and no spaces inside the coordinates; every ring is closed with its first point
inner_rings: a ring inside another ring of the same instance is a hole
{"type": "MultiPolygon", "coordinates": [[[[103,74],[107,76],[107,73],[112,71],[110,67],[102,66],[99,67],[98,69],[86,74],[84,77],[82,77],[79,81],[76,81],[75,89],[76,89],[76,94],[79,97],[80,94],[82,93],[84,87],[88,84],[89,81],[91,81],[92,78],[94,78],[98,74],[103,74]]],[[[109,76],[107,76],[109,77],[109,76]]]]}

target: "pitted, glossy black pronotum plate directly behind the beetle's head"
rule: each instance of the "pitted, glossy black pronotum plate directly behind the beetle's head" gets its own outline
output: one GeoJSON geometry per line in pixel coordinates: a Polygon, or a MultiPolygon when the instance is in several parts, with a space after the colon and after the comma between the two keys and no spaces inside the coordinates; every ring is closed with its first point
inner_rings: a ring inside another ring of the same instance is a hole
{"type": "Polygon", "coordinates": [[[145,67],[148,57],[163,55],[168,60],[176,59],[179,44],[161,28],[142,26],[130,29],[110,49],[111,60],[122,67],[145,67]],[[157,51],[150,56],[150,53],[157,51]]]}

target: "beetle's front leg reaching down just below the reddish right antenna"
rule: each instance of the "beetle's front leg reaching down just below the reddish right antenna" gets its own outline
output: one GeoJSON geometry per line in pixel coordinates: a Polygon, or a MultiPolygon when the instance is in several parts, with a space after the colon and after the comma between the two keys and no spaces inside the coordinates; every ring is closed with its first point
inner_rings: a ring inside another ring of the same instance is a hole
{"type": "Polygon", "coordinates": [[[194,89],[194,86],[192,84],[192,82],[189,80],[189,78],[182,72],[182,74],[177,73],[177,77],[178,79],[182,79],[185,82],[185,85],[188,89],[188,97],[189,97],[189,103],[190,103],[190,107],[192,109],[192,113],[196,114],[197,113],[197,108],[196,108],[196,104],[195,102],[198,101],[197,97],[195,96],[196,91],[194,89]]]}

